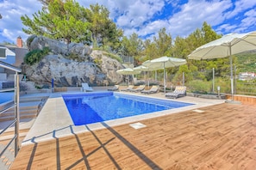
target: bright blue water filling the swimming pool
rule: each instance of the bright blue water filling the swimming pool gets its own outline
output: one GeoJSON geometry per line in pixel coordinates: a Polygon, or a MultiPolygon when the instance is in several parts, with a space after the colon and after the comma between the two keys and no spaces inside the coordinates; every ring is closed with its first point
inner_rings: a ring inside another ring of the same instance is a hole
{"type": "Polygon", "coordinates": [[[63,94],[62,97],[75,125],[92,124],[193,105],[113,92],[63,94]]]}

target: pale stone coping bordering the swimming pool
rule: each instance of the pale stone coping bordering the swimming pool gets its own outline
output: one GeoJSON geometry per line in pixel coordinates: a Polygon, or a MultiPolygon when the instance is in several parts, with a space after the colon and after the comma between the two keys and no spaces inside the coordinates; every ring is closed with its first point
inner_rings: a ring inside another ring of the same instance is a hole
{"type": "MultiPolygon", "coordinates": [[[[115,92],[115,93],[120,93],[120,92],[115,92]]],[[[80,93],[77,93],[77,94],[80,94],[80,93]]],[[[122,93],[122,94],[127,94],[127,93],[122,93]]],[[[140,95],[140,94],[134,94],[134,95],[140,95]]],[[[150,97],[153,99],[170,100],[167,98],[160,98],[153,95],[142,94],[142,96],[150,97]]],[[[206,101],[205,99],[203,100],[206,101]]],[[[188,101],[184,101],[183,99],[178,101],[188,103],[188,101]]],[[[63,100],[61,94],[53,94],[49,97],[45,106],[43,106],[43,108],[41,109],[39,116],[35,119],[33,126],[31,127],[30,131],[28,131],[27,136],[24,138],[22,142],[22,146],[27,144],[32,144],[32,143],[40,143],[43,141],[56,139],[59,137],[68,137],[68,136],[86,132],[86,131],[96,131],[96,130],[107,128],[106,126],[114,127],[122,124],[132,124],[134,122],[139,122],[141,120],[148,119],[148,118],[156,118],[159,116],[165,116],[173,113],[197,109],[203,106],[211,106],[215,104],[224,103],[224,100],[218,100],[218,102],[214,102],[214,103],[207,103],[207,102],[202,103],[202,101],[197,102],[197,100],[193,100],[193,101],[194,102],[191,102],[191,101],[189,102],[194,104],[190,106],[184,106],[184,107],[178,107],[171,110],[136,115],[128,118],[117,118],[115,120],[104,121],[103,123],[94,123],[94,124],[75,126],[72,124],[72,118],[66,108],[65,101],[63,100]],[[59,114],[61,114],[61,118],[59,118],[59,114]],[[47,116],[49,115],[55,117],[56,119],[54,120],[53,118],[52,119],[50,119],[49,117],[47,118],[47,116]],[[52,123],[52,124],[49,124],[49,123],[52,123]],[[103,125],[103,124],[106,124],[106,125],[103,125]]]]}

